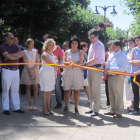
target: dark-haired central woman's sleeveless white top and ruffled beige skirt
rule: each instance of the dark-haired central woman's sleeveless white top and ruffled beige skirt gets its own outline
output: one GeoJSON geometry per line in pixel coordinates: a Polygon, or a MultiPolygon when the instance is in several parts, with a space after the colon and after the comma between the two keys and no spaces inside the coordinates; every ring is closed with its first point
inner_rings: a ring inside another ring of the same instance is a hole
{"type": "MultiPolygon", "coordinates": [[[[72,53],[71,50],[67,50],[67,62],[79,62],[80,52],[72,53]]],[[[80,90],[84,86],[84,73],[79,67],[67,67],[62,72],[62,86],[64,90],[74,89],[80,90]]]]}

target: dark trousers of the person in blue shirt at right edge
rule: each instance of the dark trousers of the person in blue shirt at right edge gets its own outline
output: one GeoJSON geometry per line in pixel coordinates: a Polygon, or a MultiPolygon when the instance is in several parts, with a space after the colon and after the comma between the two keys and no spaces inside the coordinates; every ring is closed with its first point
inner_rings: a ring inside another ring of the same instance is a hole
{"type": "MultiPolygon", "coordinates": [[[[136,81],[140,83],[140,74],[136,76],[136,81]]],[[[134,94],[134,109],[139,112],[139,86],[133,82],[133,77],[131,77],[131,83],[134,94]]]]}

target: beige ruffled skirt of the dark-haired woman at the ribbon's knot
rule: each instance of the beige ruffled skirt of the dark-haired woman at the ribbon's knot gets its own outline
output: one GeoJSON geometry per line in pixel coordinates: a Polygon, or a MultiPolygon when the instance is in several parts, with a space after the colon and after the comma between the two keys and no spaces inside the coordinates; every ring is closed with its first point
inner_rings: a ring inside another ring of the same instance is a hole
{"type": "Polygon", "coordinates": [[[64,90],[80,90],[84,86],[84,73],[79,67],[67,67],[62,72],[62,86],[64,90]]]}

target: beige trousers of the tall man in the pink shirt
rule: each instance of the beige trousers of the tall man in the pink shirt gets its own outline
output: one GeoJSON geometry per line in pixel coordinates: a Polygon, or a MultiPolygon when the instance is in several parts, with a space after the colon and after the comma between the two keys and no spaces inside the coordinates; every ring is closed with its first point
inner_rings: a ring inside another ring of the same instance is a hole
{"type": "Polygon", "coordinates": [[[90,108],[99,112],[101,104],[101,80],[102,72],[88,70],[90,108]]]}

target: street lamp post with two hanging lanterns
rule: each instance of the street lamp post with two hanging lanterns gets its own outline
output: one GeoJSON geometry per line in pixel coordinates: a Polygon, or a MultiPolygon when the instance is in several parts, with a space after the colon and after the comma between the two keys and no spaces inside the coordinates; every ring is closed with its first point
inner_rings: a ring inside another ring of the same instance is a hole
{"type": "MultiPolygon", "coordinates": [[[[113,11],[110,13],[113,17],[114,16],[116,16],[117,15],[117,12],[115,11],[115,5],[113,5],[113,6],[108,6],[108,7],[106,7],[106,6],[104,6],[104,7],[102,7],[102,6],[95,6],[96,7],[96,9],[95,9],[95,12],[93,12],[93,14],[96,14],[96,15],[99,15],[100,13],[98,12],[98,10],[97,10],[97,7],[100,7],[100,8],[102,8],[103,10],[104,10],[104,22],[106,22],[106,10],[109,8],[109,7],[113,7],[113,11]]],[[[105,47],[106,47],[106,28],[104,28],[104,45],[105,45],[105,47]]]]}

